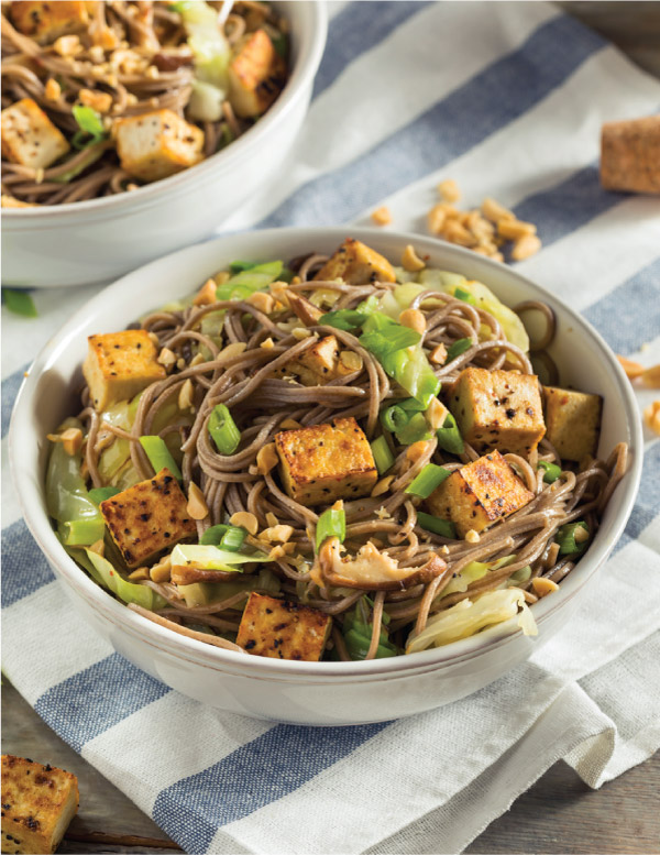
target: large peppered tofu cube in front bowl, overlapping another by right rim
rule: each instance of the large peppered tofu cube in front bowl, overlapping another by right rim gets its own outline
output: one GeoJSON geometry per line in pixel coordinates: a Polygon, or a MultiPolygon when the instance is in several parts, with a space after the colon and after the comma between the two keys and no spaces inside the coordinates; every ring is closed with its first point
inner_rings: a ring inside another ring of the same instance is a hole
{"type": "Polygon", "coordinates": [[[546,432],[538,377],[515,371],[465,369],[448,401],[463,439],[477,451],[497,448],[527,457],[546,432]]]}

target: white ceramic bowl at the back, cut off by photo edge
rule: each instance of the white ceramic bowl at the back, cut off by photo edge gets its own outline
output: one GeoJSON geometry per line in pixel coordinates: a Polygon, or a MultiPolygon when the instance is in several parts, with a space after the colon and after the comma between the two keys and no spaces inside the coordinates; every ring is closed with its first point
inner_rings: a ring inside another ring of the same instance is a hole
{"type": "Polygon", "coordinates": [[[110,282],[211,234],[267,186],[300,130],[328,30],[320,0],[276,3],[290,24],[292,74],[272,109],[224,151],[132,193],[2,210],[2,284],[110,282]]]}

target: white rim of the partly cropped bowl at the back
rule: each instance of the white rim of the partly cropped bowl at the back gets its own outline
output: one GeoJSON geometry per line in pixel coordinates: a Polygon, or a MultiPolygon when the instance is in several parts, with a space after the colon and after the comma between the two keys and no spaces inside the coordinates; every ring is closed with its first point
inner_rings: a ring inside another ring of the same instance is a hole
{"type": "MultiPolygon", "coordinates": [[[[240,160],[254,156],[253,150],[260,145],[260,141],[267,135],[271,128],[276,123],[285,122],[290,111],[297,102],[305,96],[309,86],[311,86],[318,70],[326,41],[328,36],[328,8],[326,0],[312,0],[312,2],[299,3],[296,0],[284,0],[289,8],[304,8],[304,14],[308,19],[304,21],[306,26],[306,37],[302,39],[300,54],[292,69],[286,85],[271,109],[256,122],[249,128],[244,134],[235,140],[227,149],[216,152],[206,157],[193,168],[182,169],[167,178],[152,182],[139,187],[132,193],[118,193],[112,196],[102,196],[100,198],[85,199],[82,201],[66,202],[64,205],[44,205],[38,208],[3,208],[2,226],[3,228],[30,228],[32,221],[41,221],[44,218],[73,217],[77,212],[82,215],[92,215],[102,211],[107,215],[120,215],[123,208],[130,206],[133,210],[148,207],[153,204],[154,197],[163,194],[180,193],[187,185],[204,183],[209,173],[217,169],[233,169],[240,160]]],[[[41,223],[40,223],[41,224],[41,223]]]]}

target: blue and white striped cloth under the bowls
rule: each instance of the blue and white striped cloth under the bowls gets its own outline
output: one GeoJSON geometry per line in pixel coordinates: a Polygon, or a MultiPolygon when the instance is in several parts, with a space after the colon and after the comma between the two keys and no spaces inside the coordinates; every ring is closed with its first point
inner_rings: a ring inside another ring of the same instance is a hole
{"type": "MultiPolygon", "coordinates": [[[[422,231],[455,178],[538,224],[521,270],[619,353],[660,361],[658,198],[604,193],[605,120],[657,112],[660,83],[544,3],[332,3],[295,156],[229,223],[422,231]]],[[[23,370],[96,287],[3,309],[2,456],[23,370]]],[[[640,396],[640,407],[652,393],[640,396]]],[[[416,719],[298,728],[200,706],[72,616],[2,484],[6,672],[40,715],[188,852],[459,852],[560,757],[598,787],[660,746],[660,442],[626,534],[561,637],[416,719]]],[[[6,469],[7,472],[7,469],[6,469]]],[[[47,757],[41,758],[47,761],[47,757]]],[[[85,799],[85,793],[82,793],[85,799]]]]}

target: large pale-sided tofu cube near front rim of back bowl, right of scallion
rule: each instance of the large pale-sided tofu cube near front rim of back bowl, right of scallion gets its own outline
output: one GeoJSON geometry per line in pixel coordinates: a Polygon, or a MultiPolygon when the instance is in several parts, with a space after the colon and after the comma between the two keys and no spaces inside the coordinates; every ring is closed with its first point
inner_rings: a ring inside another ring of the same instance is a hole
{"type": "Polygon", "coordinates": [[[172,110],[119,119],[112,133],[122,168],[143,182],[167,178],[204,157],[204,131],[172,110]]]}

